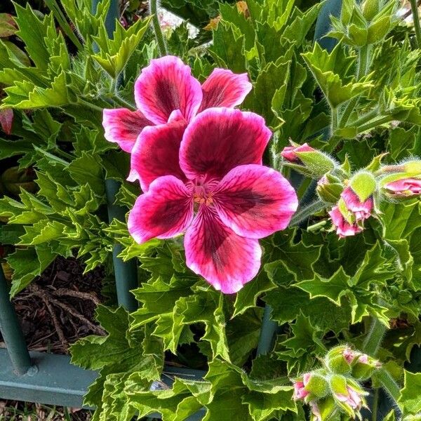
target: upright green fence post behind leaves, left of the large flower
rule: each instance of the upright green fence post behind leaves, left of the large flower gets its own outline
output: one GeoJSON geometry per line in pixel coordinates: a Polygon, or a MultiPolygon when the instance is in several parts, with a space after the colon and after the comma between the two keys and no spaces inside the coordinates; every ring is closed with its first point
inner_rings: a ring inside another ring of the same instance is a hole
{"type": "MultiPolygon", "coordinates": [[[[92,11],[95,13],[98,4],[102,0],[92,0],[92,11]]],[[[110,38],[116,26],[116,19],[119,18],[119,1],[111,0],[107,17],[105,18],[105,27],[110,38]]],[[[116,180],[105,180],[105,194],[107,196],[108,219],[112,222],[114,218],[120,221],[126,220],[127,209],[114,204],[116,194],[119,192],[120,183],[116,180]]],[[[135,259],[123,262],[117,256],[121,253],[123,247],[120,244],[114,244],[112,250],[112,262],[114,266],[114,276],[116,280],[116,292],[119,305],[122,305],[129,312],[138,309],[138,302],[135,300],[131,290],[138,288],[138,265],[135,259]]]]}

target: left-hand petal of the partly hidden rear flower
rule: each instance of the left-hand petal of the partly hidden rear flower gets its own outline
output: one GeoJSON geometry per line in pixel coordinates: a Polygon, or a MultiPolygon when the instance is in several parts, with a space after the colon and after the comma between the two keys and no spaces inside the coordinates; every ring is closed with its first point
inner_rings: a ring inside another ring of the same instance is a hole
{"type": "Polygon", "coordinates": [[[146,126],[153,126],[139,110],[126,108],[104,109],[102,126],[105,128],[105,139],[116,142],[121,149],[131,152],[140,132],[146,126]]]}

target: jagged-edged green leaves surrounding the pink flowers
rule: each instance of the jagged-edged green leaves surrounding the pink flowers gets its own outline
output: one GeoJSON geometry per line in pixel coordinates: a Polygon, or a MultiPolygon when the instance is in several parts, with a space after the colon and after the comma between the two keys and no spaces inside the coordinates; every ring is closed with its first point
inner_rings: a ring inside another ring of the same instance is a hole
{"type": "MultiPolygon", "coordinates": [[[[279,168],[288,138],[346,157],[352,169],[383,152],[389,163],[421,155],[420,50],[408,30],[387,22],[362,69],[362,48],[351,41],[339,41],[330,53],[312,41],[322,4],[246,4],[250,16],[213,0],[166,1],[196,25],[220,14],[210,45],[203,44],[210,33],[189,39],[181,25],[168,49],[201,81],[213,67],[248,72],[253,91],[242,108],[264,116],[274,131],[268,165],[279,168]]],[[[13,45],[20,49],[0,39],[1,108],[14,112],[13,137],[0,139],[0,159],[16,157],[20,168],[34,167],[37,185],[35,193],[0,199],[0,217],[8,222],[0,241],[16,246],[7,258],[11,294],[57,255],[76,252],[88,271],[109,265],[117,242],[123,260],[139,262],[134,293],[140,308],[128,314],[98,307],[107,337],[72,347],[74,363],[100,370],[86,396],[86,404],[98,407],[94,420],[159,412],[175,421],[197,410],[210,421],[304,420],[289,378],[312,370],[338,343],[361,349],[370,317],[394,326],[378,358],[403,380],[399,403],[406,419],[417,419],[413,387],[421,374],[404,368],[421,345],[420,200],[382,203],[380,220],[347,239],[323,222],[270,236],[262,241],[257,278],[235,296],[221,295],[189,271],[178,239],[135,244],[124,222],[107,220],[104,180],[121,182],[121,206],[130,208],[140,191],[126,182],[128,156],[103,137],[102,109],[133,104],[133,82],[157,51],[148,19],[128,29],[117,24],[110,40],[107,5],[93,14],[89,0],[61,0],[62,15],[55,8],[41,15],[16,4],[13,45]],[[272,308],[278,335],[272,352],[256,356],[264,305],[272,308]],[[157,384],[166,378],[164,361],[203,370],[203,380],[181,376],[169,387],[157,384]]],[[[311,180],[279,169],[303,199],[311,180]]],[[[325,216],[315,215],[309,225],[325,216]]],[[[387,419],[394,419],[393,411],[387,419]]]]}

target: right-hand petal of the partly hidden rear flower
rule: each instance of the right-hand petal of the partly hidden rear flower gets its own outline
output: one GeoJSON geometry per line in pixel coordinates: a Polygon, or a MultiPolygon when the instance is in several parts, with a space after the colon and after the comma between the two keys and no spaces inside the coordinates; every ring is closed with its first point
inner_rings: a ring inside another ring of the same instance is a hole
{"type": "Polygon", "coordinates": [[[199,112],[210,107],[235,107],[251,91],[248,74],[235,74],[227,69],[214,69],[202,85],[203,100],[199,112]]]}

